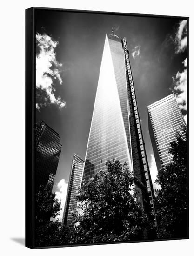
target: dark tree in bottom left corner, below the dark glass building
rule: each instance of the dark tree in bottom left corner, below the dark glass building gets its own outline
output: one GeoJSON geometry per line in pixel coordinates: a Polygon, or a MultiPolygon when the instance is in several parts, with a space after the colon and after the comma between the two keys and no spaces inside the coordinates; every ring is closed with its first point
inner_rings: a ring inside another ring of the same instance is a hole
{"type": "Polygon", "coordinates": [[[68,229],[62,229],[61,221],[50,220],[60,214],[61,202],[52,193],[51,185],[40,186],[35,203],[35,246],[56,246],[68,244],[70,240],[68,229]]]}

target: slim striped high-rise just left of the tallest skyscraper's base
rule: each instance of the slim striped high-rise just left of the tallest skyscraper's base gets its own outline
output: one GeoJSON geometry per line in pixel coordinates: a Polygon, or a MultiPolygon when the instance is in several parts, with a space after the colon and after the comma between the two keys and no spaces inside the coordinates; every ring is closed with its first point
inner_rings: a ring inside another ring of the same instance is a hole
{"type": "Polygon", "coordinates": [[[68,227],[74,227],[74,217],[72,213],[77,209],[77,195],[81,185],[83,167],[84,160],[74,154],[62,220],[62,225],[67,225],[68,227]]]}

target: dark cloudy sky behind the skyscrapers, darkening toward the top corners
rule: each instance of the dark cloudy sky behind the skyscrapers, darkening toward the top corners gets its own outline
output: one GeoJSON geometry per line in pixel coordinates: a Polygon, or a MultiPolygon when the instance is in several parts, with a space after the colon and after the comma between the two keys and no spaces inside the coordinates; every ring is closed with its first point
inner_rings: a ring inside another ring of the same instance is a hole
{"type": "Polygon", "coordinates": [[[105,36],[112,27],[127,40],[153,182],[157,169],[147,106],[173,92],[187,116],[187,20],[36,10],[36,122],[60,135],[53,191],[62,209],[73,155],[85,159],[105,36]]]}

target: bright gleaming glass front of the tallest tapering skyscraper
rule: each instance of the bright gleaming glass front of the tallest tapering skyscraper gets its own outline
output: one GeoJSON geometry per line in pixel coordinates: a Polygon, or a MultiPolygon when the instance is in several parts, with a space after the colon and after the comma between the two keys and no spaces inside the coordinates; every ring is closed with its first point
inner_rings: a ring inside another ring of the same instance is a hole
{"type": "Polygon", "coordinates": [[[127,82],[121,40],[106,35],[94,112],[87,144],[83,180],[105,170],[105,162],[117,158],[132,167],[127,82]]]}

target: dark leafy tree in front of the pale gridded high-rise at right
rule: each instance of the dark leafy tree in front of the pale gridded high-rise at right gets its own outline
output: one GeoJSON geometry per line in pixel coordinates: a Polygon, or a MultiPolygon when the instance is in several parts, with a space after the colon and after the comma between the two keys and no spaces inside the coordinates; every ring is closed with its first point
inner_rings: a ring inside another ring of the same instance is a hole
{"type": "Polygon", "coordinates": [[[185,238],[188,236],[188,174],[187,174],[187,130],[186,139],[180,134],[171,143],[169,153],[174,162],[161,169],[156,182],[157,222],[159,238],[185,238]]]}

